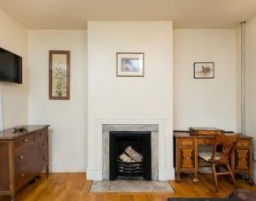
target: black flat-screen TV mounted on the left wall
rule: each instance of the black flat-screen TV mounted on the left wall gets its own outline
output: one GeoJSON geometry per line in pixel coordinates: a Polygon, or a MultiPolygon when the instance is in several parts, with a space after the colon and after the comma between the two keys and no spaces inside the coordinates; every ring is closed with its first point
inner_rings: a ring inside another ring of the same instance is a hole
{"type": "Polygon", "coordinates": [[[22,84],[22,58],[0,48],[0,81],[22,84]]]}

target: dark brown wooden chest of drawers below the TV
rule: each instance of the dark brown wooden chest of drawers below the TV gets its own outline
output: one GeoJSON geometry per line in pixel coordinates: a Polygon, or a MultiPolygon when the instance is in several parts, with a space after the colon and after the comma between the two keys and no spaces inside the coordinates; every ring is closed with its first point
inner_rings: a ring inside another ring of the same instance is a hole
{"type": "Polygon", "coordinates": [[[27,131],[0,132],[0,195],[14,197],[17,190],[46,169],[49,174],[48,125],[27,131]]]}

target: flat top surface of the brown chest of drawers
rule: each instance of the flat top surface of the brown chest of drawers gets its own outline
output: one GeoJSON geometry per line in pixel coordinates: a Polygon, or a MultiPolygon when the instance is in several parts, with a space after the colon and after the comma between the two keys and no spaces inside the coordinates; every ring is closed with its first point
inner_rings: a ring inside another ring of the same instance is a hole
{"type": "Polygon", "coordinates": [[[35,131],[41,130],[43,128],[48,128],[49,125],[28,125],[27,129],[22,132],[14,132],[14,128],[8,128],[0,131],[0,141],[5,140],[15,140],[17,138],[29,135],[35,131]]]}

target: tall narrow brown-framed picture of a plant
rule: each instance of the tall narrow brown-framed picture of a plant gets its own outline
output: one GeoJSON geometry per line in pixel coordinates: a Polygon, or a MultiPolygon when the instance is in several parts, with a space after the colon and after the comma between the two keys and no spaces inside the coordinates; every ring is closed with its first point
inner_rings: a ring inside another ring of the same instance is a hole
{"type": "Polygon", "coordinates": [[[49,50],[49,99],[70,99],[69,50],[49,50]]]}

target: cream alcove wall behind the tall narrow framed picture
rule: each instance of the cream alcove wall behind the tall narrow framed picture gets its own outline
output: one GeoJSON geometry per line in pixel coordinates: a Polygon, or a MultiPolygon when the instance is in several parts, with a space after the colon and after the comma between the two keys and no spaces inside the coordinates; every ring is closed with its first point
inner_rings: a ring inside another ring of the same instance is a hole
{"type": "Polygon", "coordinates": [[[85,171],[87,32],[30,30],[29,124],[50,124],[51,172],[85,171]],[[70,100],[49,100],[49,50],[70,50],[70,100]]]}

